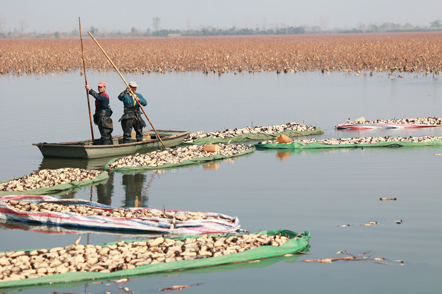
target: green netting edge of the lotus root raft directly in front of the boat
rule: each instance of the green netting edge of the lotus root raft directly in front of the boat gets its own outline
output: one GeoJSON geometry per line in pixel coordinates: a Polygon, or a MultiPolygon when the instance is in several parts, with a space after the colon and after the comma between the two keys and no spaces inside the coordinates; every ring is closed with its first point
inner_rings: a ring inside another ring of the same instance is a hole
{"type": "Polygon", "coordinates": [[[213,162],[216,160],[222,160],[222,159],[226,159],[226,158],[233,158],[233,157],[240,157],[240,156],[247,156],[250,155],[251,153],[253,153],[255,151],[255,148],[251,148],[248,149],[244,152],[241,153],[237,153],[234,155],[229,155],[229,156],[225,156],[225,155],[221,155],[221,154],[215,154],[212,156],[208,156],[208,157],[196,157],[193,159],[187,159],[181,163],[166,163],[162,166],[158,166],[158,167],[148,167],[148,166],[142,166],[142,167],[122,167],[122,168],[117,168],[117,169],[110,169],[109,166],[114,163],[116,160],[118,160],[119,158],[114,158],[111,159],[104,167],[103,169],[105,171],[112,171],[112,172],[120,172],[120,173],[134,173],[134,172],[144,172],[144,171],[152,171],[152,170],[171,170],[171,169],[176,169],[176,168],[180,168],[180,167],[184,167],[184,166],[189,166],[189,165],[196,165],[196,164],[204,164],[207,162],[213,162]]]}

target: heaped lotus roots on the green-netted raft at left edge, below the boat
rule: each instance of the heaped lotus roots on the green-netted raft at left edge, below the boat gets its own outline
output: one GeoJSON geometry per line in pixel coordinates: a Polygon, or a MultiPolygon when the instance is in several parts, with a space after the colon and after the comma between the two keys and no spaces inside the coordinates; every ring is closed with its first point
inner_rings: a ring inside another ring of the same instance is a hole
{"type": "Polygon", "coordinates": [[[100,171],[83,169],[61,169],[35,171],[17,180],[0,184],[0,191],[25,191],[38,188],[49,188],[58,184],[79,182],[94,179],[100,171]]]}

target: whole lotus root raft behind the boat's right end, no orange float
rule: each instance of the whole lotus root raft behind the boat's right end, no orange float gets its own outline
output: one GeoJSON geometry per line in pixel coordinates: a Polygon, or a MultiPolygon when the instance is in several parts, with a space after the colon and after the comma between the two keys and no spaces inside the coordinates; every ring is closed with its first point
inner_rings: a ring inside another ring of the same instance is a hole
{"type": "Polygon", "coordinates": [[[304,123],[284,123],[281,125],[255,126],[242,129],[225,129],[224,131],[209,132],[203,134],[203,131],[191,133],[186,136],[182,145],[203,145],[218,143],[234,143],[259,140],[272,140],[280,134],[289,137],[320,135],[324,131],[319,127],[304,125],[304,123]]]}

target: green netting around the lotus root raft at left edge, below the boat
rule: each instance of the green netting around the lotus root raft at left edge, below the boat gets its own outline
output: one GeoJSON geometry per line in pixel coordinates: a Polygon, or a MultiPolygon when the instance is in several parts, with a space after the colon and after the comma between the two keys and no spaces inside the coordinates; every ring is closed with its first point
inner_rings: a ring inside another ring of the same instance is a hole
{"type": "MultiPolygon", "coordinates": [[[[25,177],[27,175],[15,178],[21,179],[22,177],[25,177]]],[[[108,172],[101,172],[96,178],[85,180],[85,181],[77,181],[77,182],[71,182],[66,184],[58,184],[54,185],[52,187],[47,188],[38,188],[38,189],[31,189],[31,190],[24,190],[24,191],[0,191],[0,197],[7,196],[7,195],[59,195],[59,194],[66,194],[73,192],[75,190],[78,190],[83,187],[97,185],[97,184],[105,184],[109,179],[108,172]]],[[[8,182],[10,180],[1,181],[1,183],[8,182]]]]}

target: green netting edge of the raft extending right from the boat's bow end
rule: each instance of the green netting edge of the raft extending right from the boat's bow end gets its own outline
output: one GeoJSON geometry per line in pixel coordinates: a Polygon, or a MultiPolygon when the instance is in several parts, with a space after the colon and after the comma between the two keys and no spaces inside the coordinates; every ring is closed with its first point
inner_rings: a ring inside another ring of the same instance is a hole
{"type": "Polygon", "coordinates": [[[267,134],[267,133],[245,133],[232,138],[200,138],[193,142],[183,142],[181,145],[204,145],[204,144],[218,144],[218,143],[230,143],[235,142],[247,142],[247,141],[261,141],[261,140],[273,140],[277,136],[284,134],[289,137],[299,137],[299,136],[309,136],[309,135],[321,135],[324,134],[324,131],[316,127],[314,131],[293,131],[293,130],[285,130],[283,133],[275,133],[275,134],[267,134]]]}

